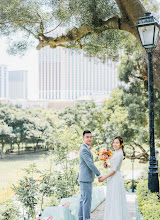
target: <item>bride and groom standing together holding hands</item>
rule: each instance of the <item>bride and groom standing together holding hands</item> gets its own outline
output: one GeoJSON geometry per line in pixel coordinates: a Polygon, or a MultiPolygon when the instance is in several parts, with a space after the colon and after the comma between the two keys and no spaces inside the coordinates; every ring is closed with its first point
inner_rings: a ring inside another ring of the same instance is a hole
{"type": "MultiPolygon", "coordinates": [[[[93,155],[90,151],[92,134],[83,132],[83,144],[79,151],[79,177],[81,198],[79,207],[79,220],[90,220],[92,202],[92,182],[95,175],[99,182],[107,179],[106,204],[104,220],[129,220],[123,177],[120,172],[124,153],[123,139],[117,136],[113,140],[115,153],[110,159],[110,171],[102,176],[94,165],[93,155]]],[[[105,157],[105,155],[104,155],[105,157]]],[[[107,158],[107,157],[106,157],[107,158]]],[[[97,219],[98,220],[98,219],[97,219]]]]}

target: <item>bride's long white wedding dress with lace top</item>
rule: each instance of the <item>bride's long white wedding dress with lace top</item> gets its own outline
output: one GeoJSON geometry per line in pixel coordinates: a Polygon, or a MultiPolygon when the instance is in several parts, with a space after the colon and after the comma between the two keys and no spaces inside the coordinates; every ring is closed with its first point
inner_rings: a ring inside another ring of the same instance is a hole
{"type": "Polygon", "coordinates": [[[111,170],[116,171],[116,173],[107,180],[104,220],[129,220],[126,191],[120,172],[122,161],[123,151],[119,149],[110,159],[111,170]]]}

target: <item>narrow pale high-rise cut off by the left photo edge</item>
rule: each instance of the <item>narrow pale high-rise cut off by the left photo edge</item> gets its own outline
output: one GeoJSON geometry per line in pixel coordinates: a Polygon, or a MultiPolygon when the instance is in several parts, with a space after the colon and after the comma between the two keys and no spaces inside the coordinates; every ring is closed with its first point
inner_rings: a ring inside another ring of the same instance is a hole
{"type": "Polygon", "coordinates": [[[0,98],[8,98],[8,71],[6,65],[0,65],[0,98]]]}

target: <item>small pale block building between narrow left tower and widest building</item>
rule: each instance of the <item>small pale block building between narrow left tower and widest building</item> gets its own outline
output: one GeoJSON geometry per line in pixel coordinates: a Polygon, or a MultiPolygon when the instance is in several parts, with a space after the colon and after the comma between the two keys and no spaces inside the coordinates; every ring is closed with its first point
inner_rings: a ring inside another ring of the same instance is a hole
{"type": "Polygon", "coordinates": [[[8,98],[28,98],[28,71],[8,71],[8,98]]]}

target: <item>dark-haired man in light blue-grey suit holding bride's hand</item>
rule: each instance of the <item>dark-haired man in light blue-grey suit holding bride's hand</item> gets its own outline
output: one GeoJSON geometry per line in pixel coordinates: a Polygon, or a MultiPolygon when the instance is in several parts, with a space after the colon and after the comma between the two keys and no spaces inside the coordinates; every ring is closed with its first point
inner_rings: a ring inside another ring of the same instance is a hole
{"type": "Polygon", "coordinates": [[[79,177],[81,198],[79,207],[79,220],[90,220],[92,202],[92,182],[95,175],[101,180],[101,174],[93,162],[93,155],[90,151],[92,134],[90,131],[83,132],[83,144],[79,151],[79,177]]]}

